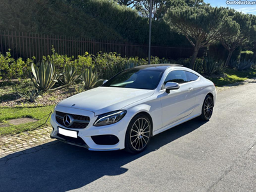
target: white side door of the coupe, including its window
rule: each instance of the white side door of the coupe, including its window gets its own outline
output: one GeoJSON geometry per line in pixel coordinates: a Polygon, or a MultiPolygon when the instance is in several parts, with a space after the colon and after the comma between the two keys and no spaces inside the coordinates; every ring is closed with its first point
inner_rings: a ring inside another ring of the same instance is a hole
{"type": "Polygon", "coordinates": [[[190,115],[195,104],[195,94],[191,93],[193,85],[184,70],[171,71],[164,79],[164,84],[167,82],[179,83],[180,88],[164,92],[161,97],[163,127],[190,115]]]}

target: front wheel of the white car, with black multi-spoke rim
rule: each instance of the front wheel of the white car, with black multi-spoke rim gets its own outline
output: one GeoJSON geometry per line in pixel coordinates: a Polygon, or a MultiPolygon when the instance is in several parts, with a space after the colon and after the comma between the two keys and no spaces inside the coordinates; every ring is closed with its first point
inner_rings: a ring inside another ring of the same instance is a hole
{"type": "Polygon", "coordinates": [[[125,134],[125,150],[131,154],[138,154],[145,150],[152,134],[152,125],[145,115],[132,118],[125,134]]]}

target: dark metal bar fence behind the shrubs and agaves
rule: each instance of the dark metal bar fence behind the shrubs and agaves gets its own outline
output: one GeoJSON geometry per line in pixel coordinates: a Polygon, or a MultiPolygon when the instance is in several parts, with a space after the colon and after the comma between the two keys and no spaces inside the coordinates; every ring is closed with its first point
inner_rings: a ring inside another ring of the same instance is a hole
{"type": "MultiPolygon", "coordinates": [[[[86,51],[89,54],[97,54],[100,51],[116,52],[121,56],[138,56],[139,58],[147,58],[148,54],[147,44],[0,31],[0,52],[5,53],[11,49],[13,58],[26,59],[35,56],[36,60],[41,60],[43,56],[52,53],[52,46],[58,54],[67,54],[67,56],[74,56],[75,58],[86,51]]],[[[152,45],[151,54],[168,59],[189,58],[193,54],[193,48],[152,45]]],[[[198,56],[202,56],[202,54],[203,51],[200,51],[198,56]]]]}

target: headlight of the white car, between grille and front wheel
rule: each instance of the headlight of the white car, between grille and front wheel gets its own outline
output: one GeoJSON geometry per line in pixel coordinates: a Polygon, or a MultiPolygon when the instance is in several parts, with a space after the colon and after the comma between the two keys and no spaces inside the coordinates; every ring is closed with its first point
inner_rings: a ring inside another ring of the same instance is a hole
{"type": "Polygon", "coordinates": [[[127,111],[121,110],[121,111],[112,111],[110,113],[99,115],[96,122],[93,125],[103,126],[103,125],[115,124],[116,122],[119,122],[125,116],[126,113],[127,111]]]}

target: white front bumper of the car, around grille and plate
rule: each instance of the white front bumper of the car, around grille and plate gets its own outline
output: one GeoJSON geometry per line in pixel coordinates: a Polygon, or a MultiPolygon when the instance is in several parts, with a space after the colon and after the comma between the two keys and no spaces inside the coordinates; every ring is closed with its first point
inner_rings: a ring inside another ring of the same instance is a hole
{"type": "Polygon", "coordinates": [[[57,140],[63,141],[65,143],[76,145],[79,147],[88,148],[88,150],[95,150],[95,151],[103,151],[103,150],[120,150],[123,149],[124,140],[125,140],[125,133],[127,127],[129,125],[130,119],[127,116],[124,116],[120,122],[111,125],[105,125],[100,127],[93,126],[97,116],[94,116],[94,113],[90,111],[84,111],[81,109],[73,109],[73,108],[58,108],[58,111],[63,113],[70,113],[76,115],[84,115],[90,117],[90,123],[84,129],[73,129],[68,127],[63,127],[63,125],[58,124],[56,122],[55,111],[51,115],[51,125],[53,130],[51,132],[51,138],[56,138],[57,140]],[[68,136],[63,136],[58,132],[58,129],[67,129],[70,131],[77,131],[77,139],[70,138],[68,136]],[[118,138],[118,143],[115,145],[97,145],[92,136],[102,136],[102,135],[113,135],[118,138]]]}

